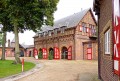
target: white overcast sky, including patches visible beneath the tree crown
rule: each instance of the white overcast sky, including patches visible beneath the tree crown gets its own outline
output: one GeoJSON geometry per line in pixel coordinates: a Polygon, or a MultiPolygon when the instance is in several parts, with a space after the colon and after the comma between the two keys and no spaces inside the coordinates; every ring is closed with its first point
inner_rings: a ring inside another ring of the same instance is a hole
{"type": "MultiPolygon", "coordinates": [[[[59,0],[57,11],[54,13],[54,21],[80,12],[81,10],[87,8],[93,8],[93,0],[59,0]]],[[[25,31],[24,33],[19,33],[19,43],[25,45],[33,45],[34,35],[35,33],[33,31],[25,31]]],[[[12,41],[13,38],[14,34],[12,32],[7,33],[7,40],[10,39],[10,41],[12,41]]]]}

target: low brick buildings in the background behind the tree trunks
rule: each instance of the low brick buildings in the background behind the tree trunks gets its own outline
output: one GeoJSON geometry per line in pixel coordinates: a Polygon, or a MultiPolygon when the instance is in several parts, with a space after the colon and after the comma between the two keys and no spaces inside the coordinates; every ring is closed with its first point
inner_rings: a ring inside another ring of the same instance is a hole
{"type": "MultiPolygon", "coordinates": [[[[34,45],[19,44],[20,57],[33,57],[34,45]]],[[[5,47],[5,57],[14,57],[15,39],[8,40],[8,47],[5,47]]],[[[0,47],[0,57],[2,56],[2,47],[0,47]]]]}

